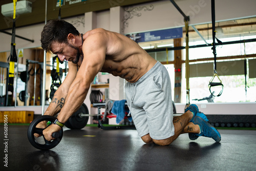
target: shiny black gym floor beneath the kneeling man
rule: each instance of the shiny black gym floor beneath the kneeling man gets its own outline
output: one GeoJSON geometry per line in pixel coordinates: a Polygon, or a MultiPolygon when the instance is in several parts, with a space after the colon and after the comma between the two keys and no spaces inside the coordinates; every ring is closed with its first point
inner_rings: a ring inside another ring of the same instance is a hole
{"type": "Polygon", "coordinates": [[[219,130],[220,143],[206,137],[191,141],[183,134],[171,145],[159,146],[145,144],[136,130],[64,127],[61,142],[40,151],[29,143],[27,129],[9,125],[6,146],[0,125],[0,170],[256,170],[255,130],[219,130]]]}

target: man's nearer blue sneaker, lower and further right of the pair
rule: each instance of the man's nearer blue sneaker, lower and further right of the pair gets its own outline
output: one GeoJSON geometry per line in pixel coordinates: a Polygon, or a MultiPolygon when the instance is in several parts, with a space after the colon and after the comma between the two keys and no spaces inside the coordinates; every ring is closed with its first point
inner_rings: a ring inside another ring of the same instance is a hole
{"type": "Polygon", "coordinates": [[[197,136],[209,137],[214,139],[216,142],[221,141],[221,135],[215,129],[215,127],[211,126],[207,121],[205,121],[200,116],[195,116],[194,124],[198,124],[200,126],[201,133],[196,134],[197,136]]]}

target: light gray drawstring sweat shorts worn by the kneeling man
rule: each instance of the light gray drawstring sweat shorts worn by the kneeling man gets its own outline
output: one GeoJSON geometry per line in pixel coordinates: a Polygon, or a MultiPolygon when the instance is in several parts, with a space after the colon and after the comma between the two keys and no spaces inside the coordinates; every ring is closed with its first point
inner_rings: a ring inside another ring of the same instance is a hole
{"type": "Polygon", "coordinates": [[[137,82],[127,82],[125,95],[140,137],[149,133],[161,140],[174,135],[170,78],[159,61],[137,82]]]}

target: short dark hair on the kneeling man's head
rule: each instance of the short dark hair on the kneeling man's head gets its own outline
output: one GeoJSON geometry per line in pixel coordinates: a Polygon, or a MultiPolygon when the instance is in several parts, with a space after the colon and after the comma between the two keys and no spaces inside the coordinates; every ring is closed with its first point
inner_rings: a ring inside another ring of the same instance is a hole
{"type": "Polygon", "coordinates": [[[50,20],[41,33],[41,46],[46,52],[51,51],[53,42],[68,42],[68,35],[79,35],[76,28],[65,20],[50,20]]]}

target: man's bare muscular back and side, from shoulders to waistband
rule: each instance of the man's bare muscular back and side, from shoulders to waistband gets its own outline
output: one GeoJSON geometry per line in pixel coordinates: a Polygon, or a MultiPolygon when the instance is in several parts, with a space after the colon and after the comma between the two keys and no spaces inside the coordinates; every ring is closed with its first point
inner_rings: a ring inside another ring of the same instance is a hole
{"type": "MultiPolygon", "coordinates": [[[[85,44],[87,38],[94,34],[100,35],[99,39],[95,41],[106,42],[105,61],[100,72],[108,72],[129,82],[136,82],[156,63],[156,60],[135,41],[116,32],[104,29],[91,30],[84,35],[85,44]]],[[[86,51],[87,47],[84,46],[86,51]]]]}

